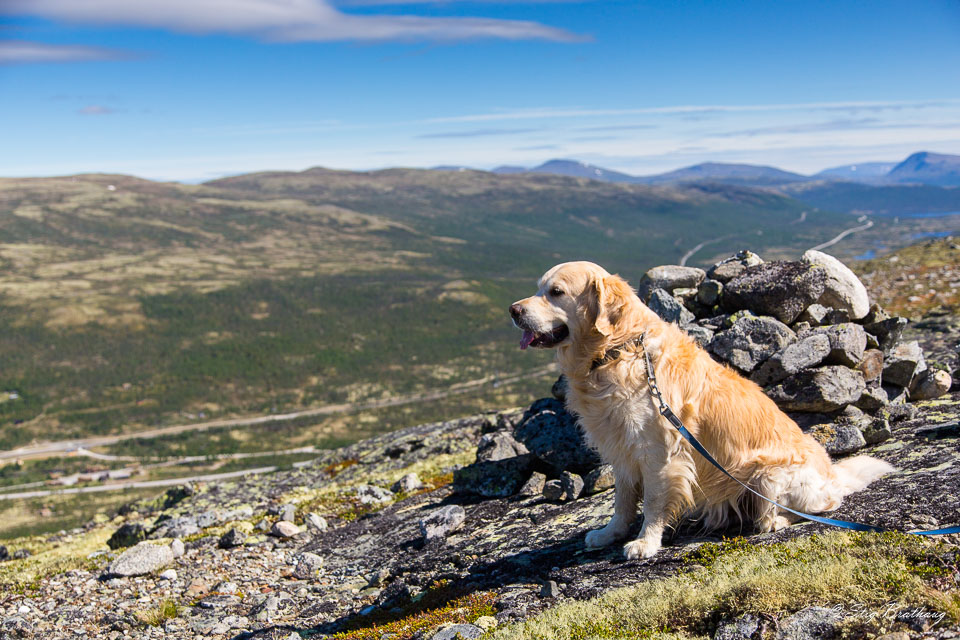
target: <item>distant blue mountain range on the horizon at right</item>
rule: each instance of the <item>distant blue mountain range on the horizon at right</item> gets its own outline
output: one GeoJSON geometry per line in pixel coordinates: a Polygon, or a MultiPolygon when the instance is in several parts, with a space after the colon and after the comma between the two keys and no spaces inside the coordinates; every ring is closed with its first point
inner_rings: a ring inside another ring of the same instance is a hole
{"type": "MultiPolygon", "coordinates": [[[[468,170],[469,167],[436,167],[437,170],[468,170]]],[[[504,165],[492,173],[548,173],[601,182],[672,185],[687,182],[720,182],[746,187],[785,187],[809,182],[855,182],[870,185],[928,185],[960,187],[960,156],[921,151],[903,162],[864,162],[831,167],[806,176],[776,167],[705,162],[652,176],[633,176],[578,160],[555,159],[536,167],[504,165]]]]}

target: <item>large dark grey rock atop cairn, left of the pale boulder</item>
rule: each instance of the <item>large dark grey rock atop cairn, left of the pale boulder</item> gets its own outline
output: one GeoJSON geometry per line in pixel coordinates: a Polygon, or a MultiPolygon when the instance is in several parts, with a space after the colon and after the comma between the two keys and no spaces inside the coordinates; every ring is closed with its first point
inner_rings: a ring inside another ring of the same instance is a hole
{"type": "Polygon", "coordinates": [[[807,262],[766,262],[750,267],[723,287],[723,306],[750,309],[785,324],[823,294],[824,270],[807,262]]]}

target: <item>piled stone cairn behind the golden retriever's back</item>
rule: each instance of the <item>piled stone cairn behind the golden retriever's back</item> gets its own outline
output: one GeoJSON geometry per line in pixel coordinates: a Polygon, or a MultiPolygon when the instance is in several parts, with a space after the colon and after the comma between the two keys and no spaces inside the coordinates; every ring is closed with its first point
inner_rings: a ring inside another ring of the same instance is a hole
{"type": "Polygon", "coordinates": [[[911,414],[897,405],[950,389],[949,373],[902,339],[907,319],[871,305],[857,276],[819,251],[796,262],[741,251],[707,271],[654,267],[638,293],[834,454],[888,437],[890,417],[911,414]]]}

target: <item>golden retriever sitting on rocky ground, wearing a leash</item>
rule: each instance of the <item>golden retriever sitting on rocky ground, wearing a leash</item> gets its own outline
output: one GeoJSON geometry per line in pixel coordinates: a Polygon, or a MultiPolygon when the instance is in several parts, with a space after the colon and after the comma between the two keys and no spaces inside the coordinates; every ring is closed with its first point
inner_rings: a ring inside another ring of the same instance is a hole
{"type": "Polygon", "coordinates": [[[641,334],[667,404],[720,464],[770,499],[807,513],[830,511],[893,470],[867,456],[832,464],[760,387],[714,362],[648,309],[626,281],[591,262],[553,267],[536,295],[514,303],[510,314],[523,330],[521,348],[557,350],[569,385],[567,407],[613,467],[614,516],[587,534],[588,547],[625,538],[641,495],[643,527],[624,547],[631,559],[657,553],[664,529],[687,513],[701,518],[706,529],[744,513],[759,531],[792,521],[724,476],[660,416],[636,342],[641,334]]]}

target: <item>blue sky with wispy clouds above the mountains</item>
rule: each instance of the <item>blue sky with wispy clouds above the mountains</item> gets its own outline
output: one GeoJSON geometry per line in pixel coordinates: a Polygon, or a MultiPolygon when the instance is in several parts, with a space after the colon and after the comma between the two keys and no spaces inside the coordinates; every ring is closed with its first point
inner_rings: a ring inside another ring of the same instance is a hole
{"type": "Polygon", "coordinates": [[[960,2],[3,0],[0,176],[960,153],[960,2]]]}

